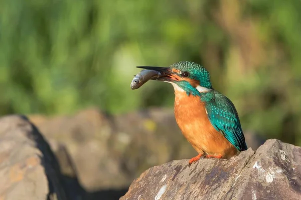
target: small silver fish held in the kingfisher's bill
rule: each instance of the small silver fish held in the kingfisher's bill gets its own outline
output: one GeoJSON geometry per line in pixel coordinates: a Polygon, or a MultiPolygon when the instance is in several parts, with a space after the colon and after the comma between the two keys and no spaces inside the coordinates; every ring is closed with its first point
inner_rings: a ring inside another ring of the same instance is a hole
{"type": "Polygon", "coordinates": [[[161,75],[159,71],[150,70],[150,69],[143,69],[141,70],[130,83],[131,89],[138,89],[142,86],[145,82],[152,78],[157,78],[161,75]]]}

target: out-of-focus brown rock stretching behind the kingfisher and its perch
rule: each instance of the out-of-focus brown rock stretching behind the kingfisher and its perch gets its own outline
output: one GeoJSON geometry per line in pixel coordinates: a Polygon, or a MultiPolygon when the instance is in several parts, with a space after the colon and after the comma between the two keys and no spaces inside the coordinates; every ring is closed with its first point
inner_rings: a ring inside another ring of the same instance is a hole
{"type": "MultiPolygon", "coordinates": [[[[32,115],[30,119],[48,140],[66,146],[80,182],[90,191],[127,188],[149,167],[197,154],[182,135],[173,109],[107,115],[91,108],[73,116],[32,115]]],[[[246,133],[251,147],[263,143],[252,142],[259,140],[246,133]]],[[[64,174],[69,173],[64,159],[59,160],[64,174]]]]}

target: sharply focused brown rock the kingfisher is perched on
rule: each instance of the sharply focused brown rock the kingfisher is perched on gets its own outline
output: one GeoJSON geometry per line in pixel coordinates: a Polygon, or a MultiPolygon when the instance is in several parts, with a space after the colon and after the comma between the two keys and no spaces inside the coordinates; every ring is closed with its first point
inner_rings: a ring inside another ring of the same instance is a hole
{"type": "Polygon", "coordinates": [[[121,200],[301,199],[301,147],[269,139],[226,159],[188,159],[143,172],[121,200]]]}

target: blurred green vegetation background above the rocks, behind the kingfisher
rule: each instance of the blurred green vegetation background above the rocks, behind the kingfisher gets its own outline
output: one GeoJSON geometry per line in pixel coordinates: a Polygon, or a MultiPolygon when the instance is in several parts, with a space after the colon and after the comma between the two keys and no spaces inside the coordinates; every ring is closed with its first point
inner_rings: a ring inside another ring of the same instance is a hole
{"type": "Polygon", "coordinates": [[[136,65],[211,72],[244,129],[301,145],[300,0],[1,0],[0,114],[173,107],[136,65]]]}

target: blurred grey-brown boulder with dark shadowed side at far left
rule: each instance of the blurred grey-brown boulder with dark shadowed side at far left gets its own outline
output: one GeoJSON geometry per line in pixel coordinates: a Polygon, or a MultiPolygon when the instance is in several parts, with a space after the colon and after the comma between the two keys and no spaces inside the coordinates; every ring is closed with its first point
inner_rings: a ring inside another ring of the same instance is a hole
{"type": "Polygon", "coordinates": [[[25,116],[0,118],[0,199],[70,199],[49,144],[25,116]]]}

